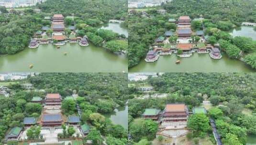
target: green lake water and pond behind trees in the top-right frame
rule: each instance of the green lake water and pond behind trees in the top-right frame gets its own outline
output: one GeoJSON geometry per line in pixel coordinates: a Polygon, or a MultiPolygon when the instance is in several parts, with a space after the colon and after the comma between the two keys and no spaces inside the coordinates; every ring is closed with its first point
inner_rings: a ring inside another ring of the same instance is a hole
{"type": "MultiPolygon", "coordinates": [[[[233,36],[245,36],[256,40],[256,31],[253,27],[240,27],[234,29],[231,34],[233,36]]],[[[163,73],[184,73],[184,72],[201,72],[201,73],[226,73],[226,72],[256,72],[244,62],[229,59],[223,54],[220,60],[213,60],[209,54],[194,53],[189,58],[178,58],[176,54],[171,56],[160,56],[156,62],[141,62],[130,68],[129,72],[163,72],[163,73]],[[180,64],[175,62],[180,60],[180,64]]]]}

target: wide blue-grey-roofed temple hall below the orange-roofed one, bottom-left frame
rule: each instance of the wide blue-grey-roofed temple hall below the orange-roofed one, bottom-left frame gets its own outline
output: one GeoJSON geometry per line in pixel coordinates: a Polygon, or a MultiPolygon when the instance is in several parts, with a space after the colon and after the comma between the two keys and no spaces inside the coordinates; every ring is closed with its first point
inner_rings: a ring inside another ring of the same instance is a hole
{"type": "Polygon", "coordinates": [[[63,124],[61,114],[42,114],[41,123],[42,126],[60,126],[63,124]]]}

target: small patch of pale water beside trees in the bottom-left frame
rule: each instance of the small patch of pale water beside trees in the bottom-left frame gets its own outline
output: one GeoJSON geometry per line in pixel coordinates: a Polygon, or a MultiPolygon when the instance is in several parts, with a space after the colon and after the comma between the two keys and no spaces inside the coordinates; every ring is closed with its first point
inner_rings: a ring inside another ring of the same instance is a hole
{"type": "Polygon", "coordinates": [[[104,114],[105,117],[110,118],[113,124],[120,124],[125,129],[128,129],[128,106],[117,107],[113,113],[104,114]]]}

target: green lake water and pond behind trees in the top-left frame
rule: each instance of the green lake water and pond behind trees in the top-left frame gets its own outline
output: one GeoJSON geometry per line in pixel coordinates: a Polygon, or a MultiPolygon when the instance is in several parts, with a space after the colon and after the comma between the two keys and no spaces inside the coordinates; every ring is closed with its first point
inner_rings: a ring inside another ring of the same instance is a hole
{"type": "MultiPolygon", "coordinates": [[[[119,34],[127,32],[122,32],[125,29],[119,24],[102,27],[119,34]]],[[[127,62],[125,55],[111,53],[92,43],[87,47],[66,43],[60,49],[52,44],[41,44],[37,49],[26,48],[13,55],[1,56],[0,72],[128,72],[127,62]],[[31,64],[32,69],[29,68],[31,64]]]]}

